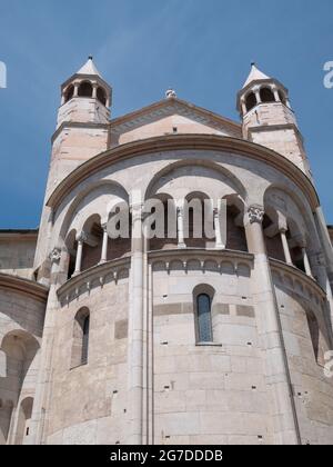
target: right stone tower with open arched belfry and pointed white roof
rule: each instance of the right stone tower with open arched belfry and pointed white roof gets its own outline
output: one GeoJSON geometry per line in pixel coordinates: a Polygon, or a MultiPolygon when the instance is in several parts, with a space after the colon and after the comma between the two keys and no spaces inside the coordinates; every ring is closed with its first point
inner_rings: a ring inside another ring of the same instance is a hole
{"type": "Polygon", "coordinates": [[[238,95],[238,109],[244,138],[282,153],[311,176],[289,91],[280,81],[268,77],[252,63],[251,72],[238,95]]]}

